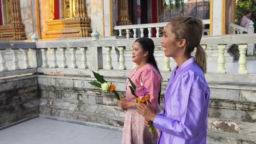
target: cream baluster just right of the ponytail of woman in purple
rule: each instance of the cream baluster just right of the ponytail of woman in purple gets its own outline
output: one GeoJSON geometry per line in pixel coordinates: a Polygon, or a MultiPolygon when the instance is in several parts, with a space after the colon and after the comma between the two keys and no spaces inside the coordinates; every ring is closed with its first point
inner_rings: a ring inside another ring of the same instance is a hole
{"type": "Polygon", "coordinates": [[[226,49],[226,45],[218,45],[218,50],[219,50],[219,58],[218,58],[218,68],[217,68],[217,73],[226,73],[225,69],[225,57],[224,57],[224,52],[226,49]]]}

